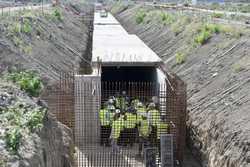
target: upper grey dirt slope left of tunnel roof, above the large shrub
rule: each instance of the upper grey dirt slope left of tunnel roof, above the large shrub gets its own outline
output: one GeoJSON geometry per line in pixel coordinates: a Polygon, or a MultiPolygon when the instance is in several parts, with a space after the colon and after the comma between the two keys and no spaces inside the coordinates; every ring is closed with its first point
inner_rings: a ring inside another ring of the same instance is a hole
{"type": "Polygon", "coordinates": [[[88,56],[91,20],[84,16],[92,9],[89,5],[70,3],[45,10],[44,14],[24,11],[1,18],[1,68],[22,66],[52,80],[58,79],[58,72],[78,71],[88,56]]]}

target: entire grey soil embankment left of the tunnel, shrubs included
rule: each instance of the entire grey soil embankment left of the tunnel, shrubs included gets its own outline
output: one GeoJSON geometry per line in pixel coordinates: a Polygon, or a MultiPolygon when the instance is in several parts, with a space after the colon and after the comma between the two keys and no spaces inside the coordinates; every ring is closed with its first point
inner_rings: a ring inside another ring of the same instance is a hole
{"type": "Polygon", "coordinates": [[[82,71],[91,60],[92,15],[93,6],[71,1],[1,17],[0,166],[73,166],[72,131],[51,113],[58,109],[60,74],[82,71]],[[37,76],[27,79],[29,73],[21,72],[23,78],[17,77],[16,83],[23,87],[6,80],[6,75],[20,70],[35,71],[41,77],[40,96],[48,105],[23,91],[40,89],[37,76]],[[43,118],[41,108],[46,109],[43,118]],[[39,127],[30,130],[26,124],[39,127]]]}

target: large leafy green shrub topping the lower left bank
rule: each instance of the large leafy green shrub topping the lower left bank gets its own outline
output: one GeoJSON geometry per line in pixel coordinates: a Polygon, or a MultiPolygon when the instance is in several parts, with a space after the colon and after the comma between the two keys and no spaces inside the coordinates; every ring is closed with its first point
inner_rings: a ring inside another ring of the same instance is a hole
{"type": "Polygon", "coordinates": [[[41,79],[34,72],[15,72],[8,76],[8,79],[17,83],[22,90],[27,92],[30,96],[39,96],[43,83],[41,79]]]}

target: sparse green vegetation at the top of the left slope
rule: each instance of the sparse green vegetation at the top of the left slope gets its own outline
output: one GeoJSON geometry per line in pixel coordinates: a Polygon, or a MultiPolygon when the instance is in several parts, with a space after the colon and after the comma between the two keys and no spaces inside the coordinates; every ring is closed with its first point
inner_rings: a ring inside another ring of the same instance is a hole
{"type": "Polygon", "coordinates": [[[24,10],[18,13],[13,13],[12,16],[1,16],[2,21],[5,22],[5,34],[12,39],[14,45],[24,54],[31,54],[32,36],[37,39],[41,35],[41,26],[38,25],[40,18],[46,18],[50,21],[62,22],[63,15],[60,8],[53,8],[52,10],[33,11],[24,10]]]}

